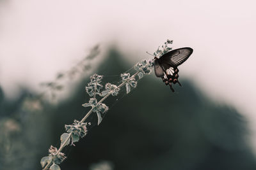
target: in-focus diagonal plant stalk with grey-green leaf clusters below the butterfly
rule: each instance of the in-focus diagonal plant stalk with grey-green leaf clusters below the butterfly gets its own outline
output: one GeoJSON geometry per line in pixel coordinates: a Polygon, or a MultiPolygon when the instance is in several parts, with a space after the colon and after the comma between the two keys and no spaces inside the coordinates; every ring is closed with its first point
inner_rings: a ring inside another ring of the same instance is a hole
{"type": "MultiPolygon", "coordinates": [[[[72,145],[75,142],[79,141],[79,137],[83,138],[87,133],[86,125],[90,124],[90,122],[83,123],[88,116],[94,112],[97,114],[98,125],[102,122],[102,115],[108,111],[108,106],[102,103],[108,96],[117,96],[121,87],[125,86],[127,94],[131,92],[131,87],[136,88],[137,80],[136,76],[138,75],[138,79],[143,77],[143,74],[150,74],[150,69],[154,67],[154,60],[143,60],[143,62],[138,62],[134,69],[137,71],[135,74],[130,76],[130,73],[122,73],[120,74],[122,78],[122,83],[120,85],[113,85],[111,83],[106,83],[105,90],[102,90],[104,87],[102,85],[102,75],[93,74],[90,76],[90,82],[86,86],[86,92],[91,97],[88,103],[82,104],[84,107],[92,107],[90,111],[85,115],[85,117],[81,121],[75,120],[72,125],[65,125],[66,131],[69,133],[63,133],[61,135],[61,146],[59,150],[51,146],[49,149],[49,153],[52,155],[52,160],[47,162],[45,166],[45,159],[42,163],[42,167],[47,169],[47,167],[52,163],[52,168],[60,168],[55,166],[55,164],[60,164],[66,157],[64,153],[60,151],[70,143],[70,138],[72,139],[72,145]],[[97,101],[97,95],[102,97],[100,101],[97,101]]],[[[61,76],[60,76],[61,77],[61,76]]],[[[51,169],[50,167],[50,169],[51,169]]]]}

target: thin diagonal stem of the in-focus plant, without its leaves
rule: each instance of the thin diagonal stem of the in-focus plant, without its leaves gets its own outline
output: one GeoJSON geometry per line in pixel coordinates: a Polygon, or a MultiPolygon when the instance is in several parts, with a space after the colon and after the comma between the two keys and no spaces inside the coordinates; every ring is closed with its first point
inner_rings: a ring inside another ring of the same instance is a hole
{"type": "MultiPolygon", "coordinates": [[[[125,85],[125,83],[127,83],[127,81],[134,78],[138,73],[140,73],[140,72],[138,71],[135,74],[133,74],[130,78],[127,78],[127,80],[125,80],[123,83],[118,85],[118,87],[116,89],[123,87],[125,85]]],[[[98,106],[98,104],[102,103],[106,98],[108,98],[108,96],[110,96],[113,91],[114,90],[109,91],[108,94],[106,96],[104,96],[102,99],[100,99],[100,101],[93,108],[95,108],[96,106],[98,106]]],[[[93,108],[90,111],[88,111],[88,113],[84,116],[84,118],[80,121],[80,123],[83,123],[86,120],[86,118],[88,118],[91,115],[93,108]]],[[[56,152],[55,155],[58,155],[61,152],[61,150],[65,147],[65,144],[67,143],[67,141],[71,138],[71,135],[72,135],[72,133],[68,134],[68,138],[63,142],[63,144],[60,146],[60,148],[58,149],[58,151],[56,152]]],[[[52,164],[52,160],[51,160],[51,162],[47,163],[47,165],[44,167],[43,170],[46,170],[51,164],[52,164]]]]}

